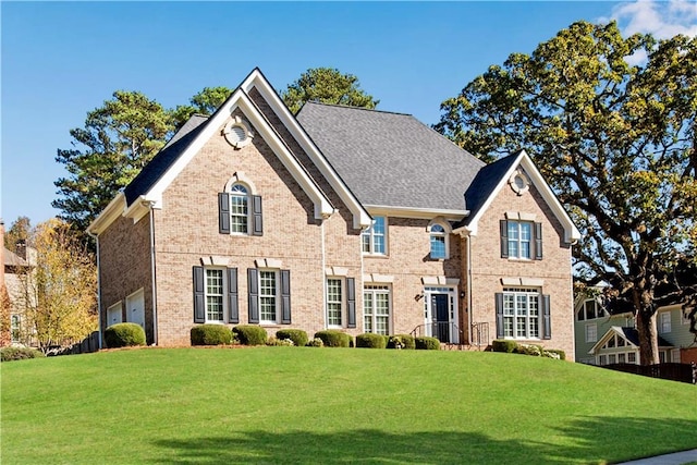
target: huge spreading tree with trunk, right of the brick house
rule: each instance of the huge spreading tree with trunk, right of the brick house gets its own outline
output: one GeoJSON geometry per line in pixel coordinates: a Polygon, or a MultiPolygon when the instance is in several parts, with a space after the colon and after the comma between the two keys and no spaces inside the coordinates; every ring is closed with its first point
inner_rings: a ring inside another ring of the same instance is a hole
{"type": "Polygon", "coordinates": [[[696,260],[697,38],[623,38],[615,23],[578,22],[490,66],[441,110],[436,129],[481,158],[535,158],[582,231],[577,278],[626,296],[641,363],[658,363],[656,310],[687,290],[658,286],[696,260]]]}

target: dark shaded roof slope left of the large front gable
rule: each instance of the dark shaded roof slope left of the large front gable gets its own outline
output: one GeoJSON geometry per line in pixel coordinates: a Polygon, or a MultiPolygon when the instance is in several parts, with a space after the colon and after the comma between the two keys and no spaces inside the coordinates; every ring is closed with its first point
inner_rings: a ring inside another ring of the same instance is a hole
{"type": "Polygon", "coordinates": [[[139,195],[146,194],[164,174],[174,161],[186,150],[196,135],[205,127],[208,117],[194,114],[176,134],[164,145],[137,176],[123,189],[126,205],[131,205],[139,195]]]}

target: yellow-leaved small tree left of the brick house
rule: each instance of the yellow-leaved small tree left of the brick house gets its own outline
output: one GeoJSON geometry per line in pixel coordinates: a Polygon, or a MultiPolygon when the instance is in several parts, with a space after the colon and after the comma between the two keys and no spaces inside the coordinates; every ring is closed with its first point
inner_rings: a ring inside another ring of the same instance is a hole
{"type": "Polygon", "coordinates": [[[97,329],[97,270],[70,225],[52,219],[33,231],[36,266],[21,277],[25,328],[41,352],[97,329]]]}

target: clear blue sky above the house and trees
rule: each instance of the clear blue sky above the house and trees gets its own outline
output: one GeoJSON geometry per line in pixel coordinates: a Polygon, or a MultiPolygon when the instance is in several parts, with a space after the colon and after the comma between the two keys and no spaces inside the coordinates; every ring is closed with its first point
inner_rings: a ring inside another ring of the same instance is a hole
{"type": "Polygon", "coordinates": [[[166,108],[259,66],[277,88],[309,68],[358,76],[378,109],[426,124],[490,64],[578,20],[697,34],[694,2],[8,2],[1,15],[0,217],[59,213],[69,131],[117,89],[166,108]]]}

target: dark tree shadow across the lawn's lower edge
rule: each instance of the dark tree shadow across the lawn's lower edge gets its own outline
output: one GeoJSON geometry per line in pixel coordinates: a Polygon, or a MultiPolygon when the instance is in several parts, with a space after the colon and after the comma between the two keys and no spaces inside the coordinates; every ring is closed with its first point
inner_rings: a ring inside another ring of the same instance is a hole
{"type": "MultiPolygon", "coordinates": [[[[540,419],[543,421],[543,419],[540,419]]],[[[571,437],[560,446],[547,442],[498,440],[456,431],[391,433],[359,429],[345,432],[230,431],[191,440],[155,441],[162,449],[152,463],[205,464],[591,464],[638,458],[645,449],[632,438],[656,439],[649,453],[686,449],[671,438],[694,435],[697,421],[586,417],[555,436],[571,437]],[[641,431],[637,435],[637,432],[641,431]],[[650,433],[647,433],[650,431],[650,433]],[[635,436],[636,435],[636,436],[635,436]],[[662,445],[664,449],[661,449],[662,445]],[[658,448],[658,449],[656,449],[658,448]],[[167,458],[166,458],[167,457],[167,458]]],[[[694,444],[693,446],[697,446],[694,444]]],[[[687,445],[689,448],[689,445],[687,445]]]]}

